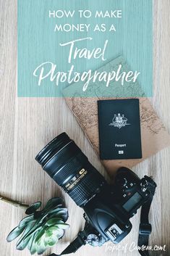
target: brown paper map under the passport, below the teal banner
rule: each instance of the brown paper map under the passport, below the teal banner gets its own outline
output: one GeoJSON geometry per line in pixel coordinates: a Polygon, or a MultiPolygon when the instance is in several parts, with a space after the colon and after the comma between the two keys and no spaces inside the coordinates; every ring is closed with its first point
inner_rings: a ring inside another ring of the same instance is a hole
{"type": "MultiPolygon", "coordinates": [[[[111,62],[109,63],[109,66],[111,66],[111,62]]],[[[135,86],[136,90],[137,87],[139,90],[141,90],[138,84],[135,86]]],[[[66,92],[64,95],[67,95],[67,91],[67,89],[64,90],[64,92],[66,92]]],[[[134,98],[134,96],[131,97],[134,98]]],[[[85,132],[90,143],[95,149],[95,152],[99,154],[97,101],[99,99],[118,99],[118,97],[109,96],[107,98],[103,98],[96,96],[93,98],[82,98],[76,95],[75,97],[67,96],[65,99],[69,109],[72,110],[73,114],[77,118],[78,123],[80,123],[82,130],[85,132]]],[[[122,97],[122,99],[124,99],[124,97],[122,97]]],[[[121,166],[132,168],[132,166],[135,166],[137,163],[142,162],[153,154],[156,154],[156,152],[163,149],[164,147],[170,146],[169,133],[166,131],[166,128],[163,127],[161,120],[159,119],[155,110],[153,110],[149,99],[146,97],[140,98],[140,125],[143,158],[135,160],[103,160],[103,165],[110,175],[113,174],[114,170],[121,166]]]]}

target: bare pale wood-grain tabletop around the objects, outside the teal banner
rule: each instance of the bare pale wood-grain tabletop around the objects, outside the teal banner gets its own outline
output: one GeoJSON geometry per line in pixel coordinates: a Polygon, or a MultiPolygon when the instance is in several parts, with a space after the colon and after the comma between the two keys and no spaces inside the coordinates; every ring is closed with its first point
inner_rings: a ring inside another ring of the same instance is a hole
{"type": "MultiPolygon", "coordinates": [[[[154,5],[154,96],[153,107],[170,131],[170,1],[155,0],[154,5]]],[[[45,204],[50,197],[62,195],[69,208],[71,228],[64,239],[51,249],[61,252],[83,226],[82,210],[59,186],[44,173],[35,162],[35,154],[61,131],[66,131],[89,157],[90,162],[106,175],[93,149],[85,138],[75,117],[69,111],[64,99],[17,98],[17,1],[0,0],[0,191],[5,196],[26,203],[42,200],[45,204]]],[[[163,149],[149,160],[134,168],[137,175],[153,176],[158,184],[156,197],[150,212],[153,233],[150,244],[166,244],[166,252],[153,252],[153,256],[170,255],[170,149],[163,149]]],[[[15,250],[15,244],[7,244],[9,231],[24,216],[20,209],[0,202],[0,255],[28,256],[15,250]]],[[[122,245],[137,242],[139,212],[132,219],[133,231],[122,241],[122,245]]],[[[50,251],[48,251],[50,252],[50,251]]],[[[46,253],[48,255],[48,253],[46,253]]],[[[137,252],[109,252],[106,247],[93,249],[82,247],[77,256],[137,256],[137,252]]]]}

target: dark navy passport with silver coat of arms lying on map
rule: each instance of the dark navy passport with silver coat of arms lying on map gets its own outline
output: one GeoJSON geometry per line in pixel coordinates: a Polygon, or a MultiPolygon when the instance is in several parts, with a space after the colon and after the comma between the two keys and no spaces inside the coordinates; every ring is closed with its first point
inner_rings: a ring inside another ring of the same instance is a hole
{"type": "Polygon", "coordinates": [[[139,99],[98,101],[101,160],[142,158],[139,99]]]}

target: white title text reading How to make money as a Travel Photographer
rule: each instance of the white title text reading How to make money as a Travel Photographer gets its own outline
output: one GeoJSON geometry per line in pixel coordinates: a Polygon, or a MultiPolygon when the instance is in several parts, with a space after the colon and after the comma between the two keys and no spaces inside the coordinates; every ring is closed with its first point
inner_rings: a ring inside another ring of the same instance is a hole
{"type": "MultiPolygon", "coordinates": [[[[66,11],[49,11],[49,18],[62,18],[64,17],[74,17],[75,11],[73,12],[66,12],[66,11]]],[[[92,12],[90,10],[79,10],[77,15],[80,15],[81,17],[86,17],[87,19],[91,17],[92,12]]],[[[111,18],[122,18],[122,11],[121,10],[112,10],[111,12],[99,12],[96,11],[94,17],[111,17],[111,18]]],[[[103,23],[101,25],[95,25],[93,29],[93,32],[105,32],[106,31],[106,24],[103,23]]],[[[54,28],[54,32],[57,31],[60,32],[69,32],[70,30],[78,30],[78,31],[86,31],[88,32],[90,30],[90,24],[77,24],[77,25],[70,25],[65,24],[61,25],[58,24],[54,28]]],[[[109,33],[116,33],[116,27],[114,24],[109,25],[109,33]]],[[[111,70],[109,72],[102,71],[99,72],[97,70],[85,70],[84,72],[80,73],[75,70],[74,62],[77,61],[77,59],[84,59],[85,61],[88,61],[90,59],[101,59],[102,62],[106,62],[106,51],[107,47],[109,45],[109,40],[106,39],[102,47],[95,47],[93,49],[88,48],[81,48],[80,44],[81,42],[90,44],[90,41],[93,41],[92,37],[85,37],[85,38],[77,38],[72,41],[67,42],[61,42],[59,44],[60,47],[64,47],[64,51],[68,51],[68,57],[66,59],[66,62],[70,65],[70,68],[67,72],[58,70],[58,66],[56,63],[47,61],[41,63],[41,65],[38,65],[38,67],[35,68],[33,71],[33,75],[38,80],[38,86],[41,86],[43,84],[43,81],[50,80],[52,83],[55,83],[56,86],[59,86],[60,83],[77,83],[79,81],[82,81],[82,91],[86,91],[88,89],[89,84],[95,83],[95,82],[105,82],[106,87],[109,87],[111,84],[111,81],[120,82],[122,86],[124,86],[124,83],[135,83],[137,80],[137,77],[140,75],[140,72],[133,72],[132,70],[124,71],[122,68],[122,65],[119,64],[115,70],[111,70]]]]}

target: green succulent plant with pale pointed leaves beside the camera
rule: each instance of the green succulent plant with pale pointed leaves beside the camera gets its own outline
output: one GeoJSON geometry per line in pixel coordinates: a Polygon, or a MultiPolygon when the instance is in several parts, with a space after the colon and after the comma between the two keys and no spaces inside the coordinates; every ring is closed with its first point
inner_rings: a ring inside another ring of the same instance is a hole
{"type": "Polygon", "coordinates": [[[36,252],[38,255],[43,254],[48,247],[53,247],[64,236],[64,230],[69,227],[69,224],[65,223],[68,211],[62,207],[62,203],[61,198],[55,197],[47,202],[43,210],[38,210],[41,202],[35,202],[27,208],[25,213],[28,216],[9,233],[7,241],[13,241],[21,235],[16,249],[22,250],[27,247],[31,255],[36,252]]]}

